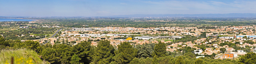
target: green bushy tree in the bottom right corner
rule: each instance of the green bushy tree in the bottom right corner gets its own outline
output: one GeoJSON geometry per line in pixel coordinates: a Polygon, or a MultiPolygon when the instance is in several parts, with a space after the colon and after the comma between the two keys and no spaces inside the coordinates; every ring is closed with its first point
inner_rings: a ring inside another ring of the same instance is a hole
{"type": "Polygon", "coordinates": [[[240,64],[255,64],[256,63],[256,54],[254,52],[247,53],[243,55],[239,61],[240,64]]]}

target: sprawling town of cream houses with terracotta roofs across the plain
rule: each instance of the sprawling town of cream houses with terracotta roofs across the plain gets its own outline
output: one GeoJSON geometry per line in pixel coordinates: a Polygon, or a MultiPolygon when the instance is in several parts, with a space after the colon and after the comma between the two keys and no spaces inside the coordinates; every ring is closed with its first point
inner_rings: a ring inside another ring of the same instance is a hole
{"type": "MultiPolygon", "coordinates": [[[[198,27],[90,27],[62,29],[58,37],[42,38],[38,41],[41,45],[47,42],[51,45],[70,43],[72,46],[80,42],[91,42],[92,46],[97,46],[100,40],[109,40],[114,47],[122,42],[131,42],[130,45],[142,45],[149,43],[169,43],[166,51],[175,52],[183,47],[194,49],[198,54],[197,58],[204,55],[212,55],[215,59],[237,58],[247,52],[256,50],[256,26],[210,26],[216,29],[198,29],[198,27]],[[206,37],[200,35],[205,32],[206,37]],[[194,36],[187,42],[180,42],[187,39],[186,36],[194,36]],[[201,47],[204,46],[204,47],[201,47]],[[221,50],[225,48],[225,50],[221,50]],[[228,54],[228,55],[227,55],[228,54]]],[[[34,36],[34,35],[30,35],[34,36]]],[[[26,41],[26,40],[22,40],[26,41]]],[[[182,52],[182,51],[181,51],[182,52]]],[[[256,51],[255,51],[256,52],[256,51]]]]}

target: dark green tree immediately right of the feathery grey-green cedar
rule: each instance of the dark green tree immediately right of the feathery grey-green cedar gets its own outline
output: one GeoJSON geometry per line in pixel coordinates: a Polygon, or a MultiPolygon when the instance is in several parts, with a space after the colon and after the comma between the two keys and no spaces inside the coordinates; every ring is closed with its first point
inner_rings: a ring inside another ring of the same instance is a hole
{"type": "Polygon", "coordinates": [[[161,43],[161,42],[157,43],[155,45],[153,55],[157,55],[158,57],[165,57],[165,53],[166,53],[165,43],[161,43]]]}

